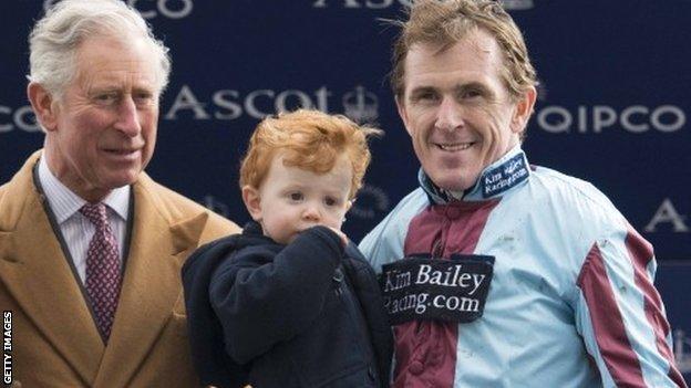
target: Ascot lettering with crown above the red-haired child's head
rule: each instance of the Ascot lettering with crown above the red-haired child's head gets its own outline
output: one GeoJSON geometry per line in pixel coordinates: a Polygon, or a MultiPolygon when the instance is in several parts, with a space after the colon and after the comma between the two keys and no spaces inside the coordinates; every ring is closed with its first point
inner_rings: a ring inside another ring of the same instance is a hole
{"type": "MultiPolygon", "coordinates": [[[[192,116],[195,120],[233,120],[247,115],[262,119],[276,112],[298,107],[333,113],[332,96],[333,92],[324,85],[312,92],[262,88],[243,93],[238,90],[219,90],[213,92],[208,99],[203,99],[189,85],[183,85],[163,117],[168,120],[177,120],[179,116],[192,116]]],[[[346,116],[355,122],[374,120],[379,116],[379,98],[364,86],[358,85],[343,93],[341,103],[346,116]]]]}

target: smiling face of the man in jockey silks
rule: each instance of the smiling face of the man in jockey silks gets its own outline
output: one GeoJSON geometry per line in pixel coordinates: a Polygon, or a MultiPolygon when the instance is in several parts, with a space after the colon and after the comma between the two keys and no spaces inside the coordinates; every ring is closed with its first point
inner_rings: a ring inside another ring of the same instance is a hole
{"type": "Polygon", "coordinates": [[[439,187],[462,191],[518,144],[535,92],[510,98],[499,46],[483,30],[441,49],[411,46],[396,104],[424,171],[439,187]]]}

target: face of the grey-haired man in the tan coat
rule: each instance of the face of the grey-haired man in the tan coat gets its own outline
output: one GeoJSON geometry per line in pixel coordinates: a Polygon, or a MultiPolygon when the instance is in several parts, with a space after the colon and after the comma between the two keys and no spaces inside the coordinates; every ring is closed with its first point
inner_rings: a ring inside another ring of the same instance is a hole
{"type": "Polygon", "coordinates": [[[152,49],[141,38],[87,39],[76,63],[74,81],[52,103],[47,157],[60,181],[94,201],[133,183],[151,160],[159,87],[152,49]]]}

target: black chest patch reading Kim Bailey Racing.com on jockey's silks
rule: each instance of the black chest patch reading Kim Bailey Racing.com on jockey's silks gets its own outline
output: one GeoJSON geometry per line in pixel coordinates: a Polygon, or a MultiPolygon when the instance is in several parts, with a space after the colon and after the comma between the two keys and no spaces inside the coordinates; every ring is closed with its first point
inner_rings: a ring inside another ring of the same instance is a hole
{"type": "Polygon", "coordinates": [[[483,315],[494,256],[411,256],[382,266],[380,285],[392,325],[409,321],[467,323],[483,315]]]}

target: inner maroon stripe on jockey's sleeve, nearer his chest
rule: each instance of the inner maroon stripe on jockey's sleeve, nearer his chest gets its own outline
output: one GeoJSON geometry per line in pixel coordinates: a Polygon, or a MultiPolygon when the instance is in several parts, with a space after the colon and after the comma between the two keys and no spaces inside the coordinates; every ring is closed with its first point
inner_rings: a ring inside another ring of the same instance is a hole
{"type": "Polygon", "coordinates": [[[631,349],[615,293],[609,283],[602,254],[597,244],[586,256],[578,275],[578,286],[584,293],[595,338],[605,365],[618,387],[646,387],[641,366],[631,349]]]}

